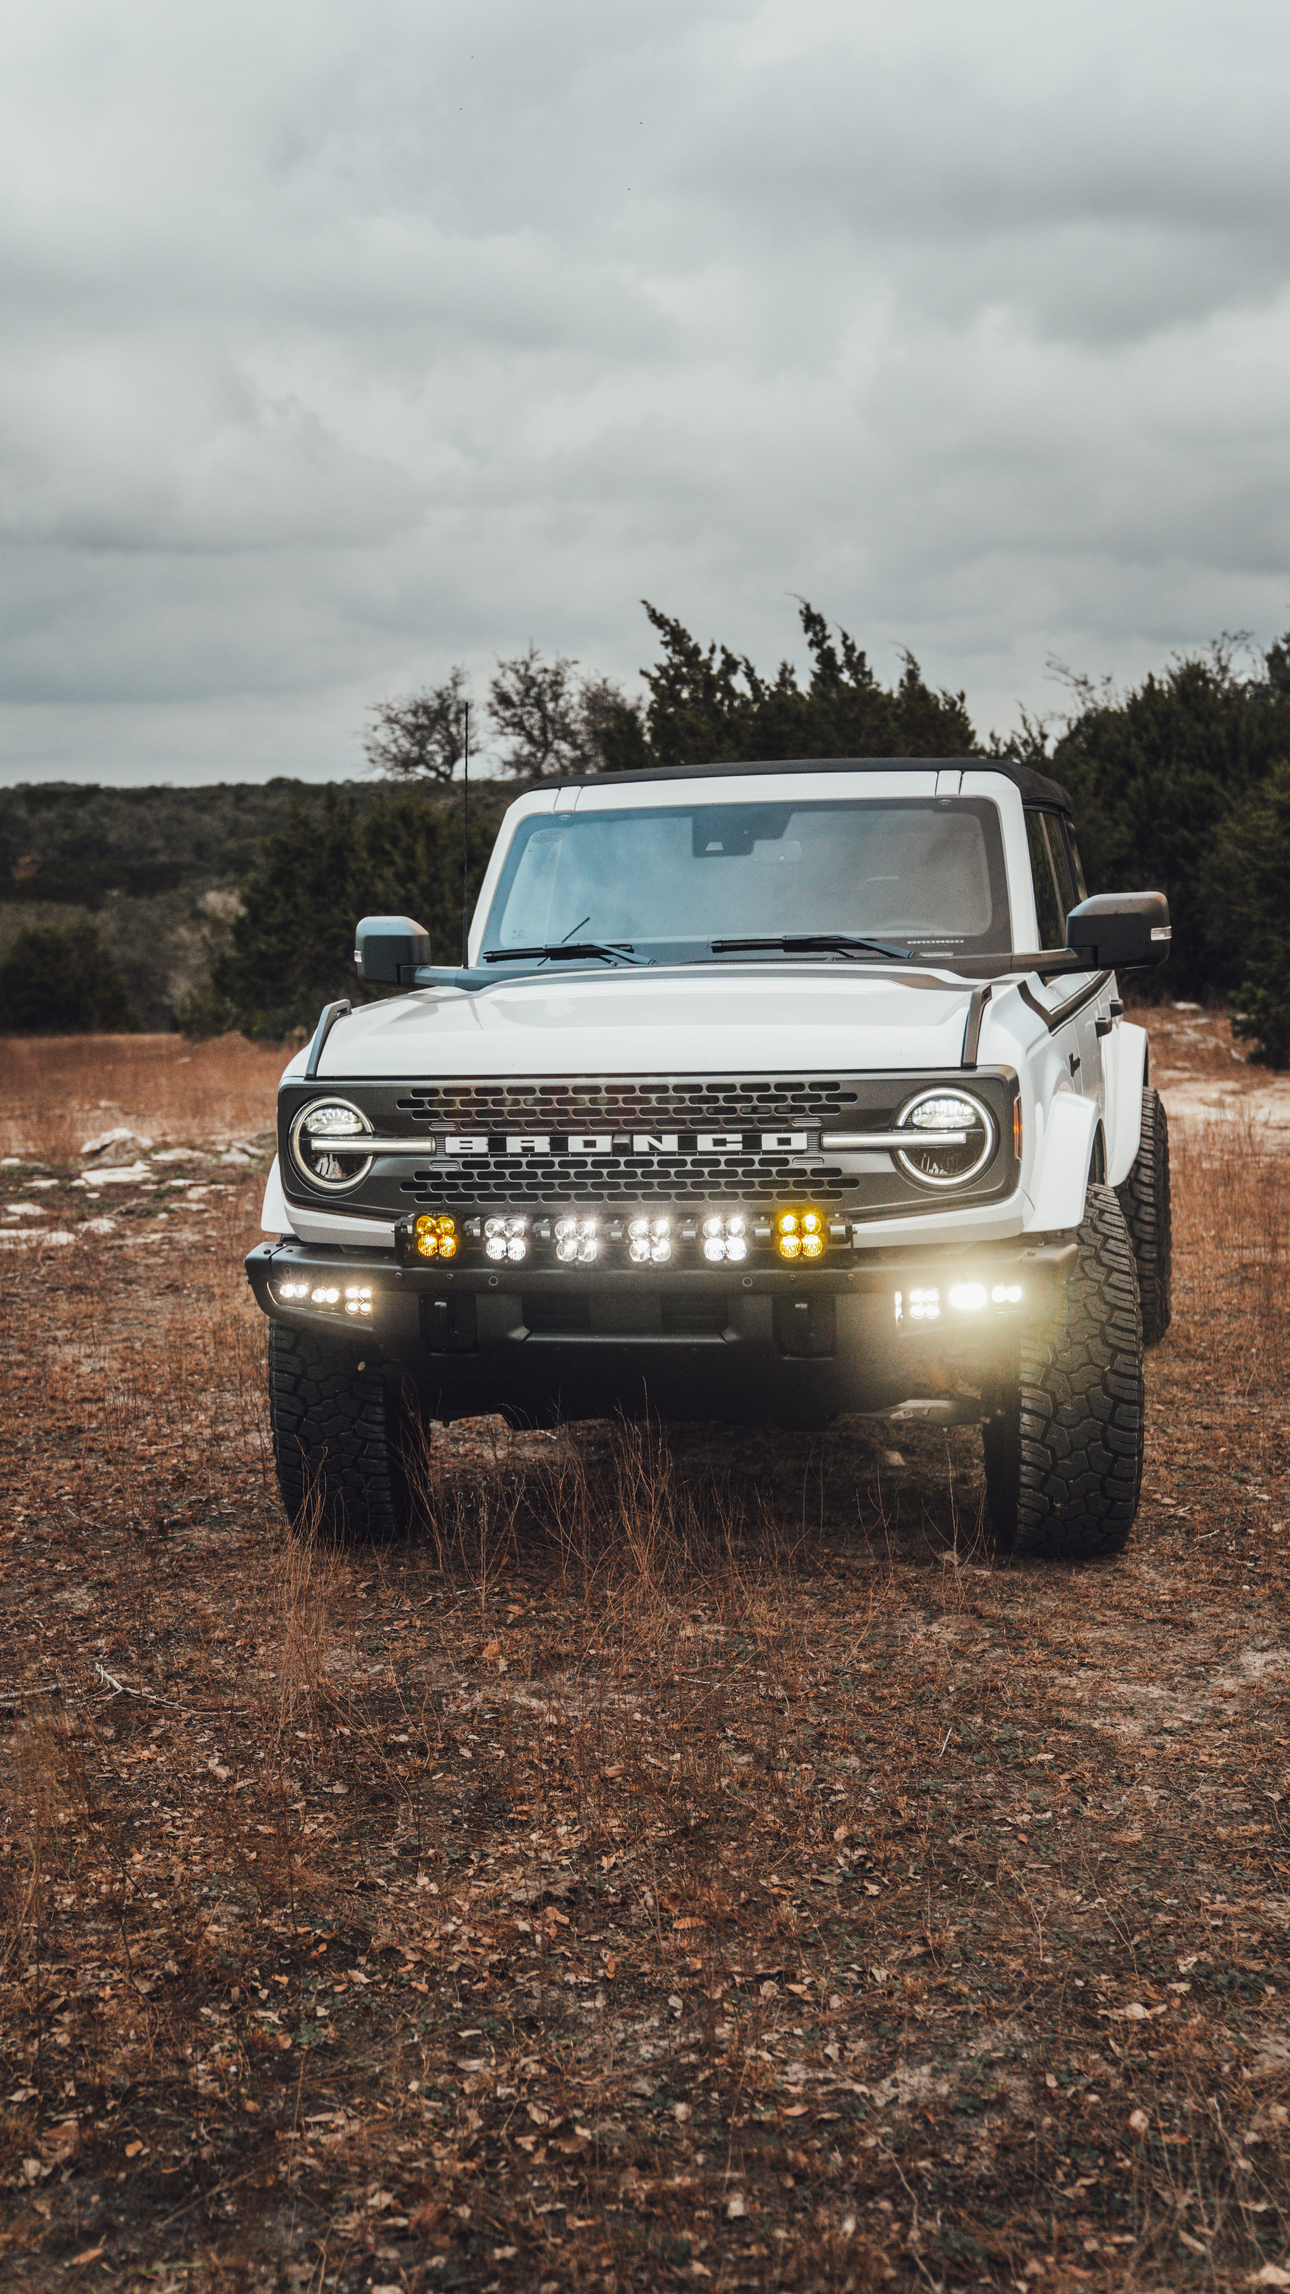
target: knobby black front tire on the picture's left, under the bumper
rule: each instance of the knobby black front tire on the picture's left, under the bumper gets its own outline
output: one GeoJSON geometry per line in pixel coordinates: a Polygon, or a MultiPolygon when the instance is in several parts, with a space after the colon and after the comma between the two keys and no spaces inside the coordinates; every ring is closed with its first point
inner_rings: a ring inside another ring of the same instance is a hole
{"type": "Polygon", "coordinates": [[[292,1528],[393,1537],[406,1526],[402,1413],[381,1363],[271,1321],[269,1418],[292,1528]]]}

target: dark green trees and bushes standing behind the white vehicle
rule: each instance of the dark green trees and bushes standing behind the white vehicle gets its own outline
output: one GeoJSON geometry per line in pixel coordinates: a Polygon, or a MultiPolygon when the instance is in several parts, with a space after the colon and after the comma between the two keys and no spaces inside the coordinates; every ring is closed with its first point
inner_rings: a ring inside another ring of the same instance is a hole
{"type": "MultiPolygon", "coordinates": [[[[379,702],[365,739],[379,787],[365,801],[324,791],[308,812],[289,805],[250,865],[211,984],[181,1021],[193,1032],[285,1037],[312,1025],[331,996],[358,1000],[363,913],[415,915],[434,959],[457,961],[466,741],[489,766],[471,780],[471,899],[503,805],[542,780],[774,757],[1017,757],[1070,789],[1090,890],[1168,895],[1164,993],[1230,998],[1251,1053],[1290,1062],[1290,635],[1267,651],[1217,640],[1125,693],[1067,677],[1060,713],[1021,713],[1012,736],[982,739],[962,693],[930,686],[911,654],[884,686],[856,640],[806,601],[806,677],[787,661],[760,672],[659,608],[645,612],[659,658],[643,670],[640,702],[533,645],[498,661],[482,702],[464,668],[379,702]]],[[[23,1023],[16,1007],[39,1007],[50,957],[16,943],[0,963],[9,1028],[23,1023]]],[[[90,1012],[80,1021],[106,1023],[90,1012]]]]}

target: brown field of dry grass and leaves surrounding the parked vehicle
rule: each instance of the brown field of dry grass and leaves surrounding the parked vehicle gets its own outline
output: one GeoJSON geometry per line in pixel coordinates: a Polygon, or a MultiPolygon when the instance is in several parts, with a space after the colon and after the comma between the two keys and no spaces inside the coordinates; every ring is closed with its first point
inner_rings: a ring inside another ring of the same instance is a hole
{"type": "Polygon", "coordinates": [[[337,1553],[266,1459],[259,1172],[71,1184],[83,1119],[223,1147],[278,1069],[2,1048],[0,1234],[73,1236],[0,1257],[5,2278],[1290,2285],[1265,1131],[1175,1133],[1118,1562],[994,1562],[978,1436],[861,1420],[477,1420],[337,1553]]]}

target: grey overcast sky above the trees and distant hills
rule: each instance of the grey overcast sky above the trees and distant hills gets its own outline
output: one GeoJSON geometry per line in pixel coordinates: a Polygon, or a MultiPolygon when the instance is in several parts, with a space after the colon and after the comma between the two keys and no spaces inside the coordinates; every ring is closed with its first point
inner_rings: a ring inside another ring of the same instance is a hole
{"type": "Polygon", "coordinates": [[[0,25],[0,778],[792,592],[982,729],[1290,624],[1281,0],[41,0],[0,25]]]}

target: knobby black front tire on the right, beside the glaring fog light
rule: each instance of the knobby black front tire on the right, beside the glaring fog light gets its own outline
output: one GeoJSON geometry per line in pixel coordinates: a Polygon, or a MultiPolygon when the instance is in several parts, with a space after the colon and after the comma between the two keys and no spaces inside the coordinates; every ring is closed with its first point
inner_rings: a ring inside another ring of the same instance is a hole
{"type": "Polygon", "coordinates": [[[1120,1553],[1143,1484],[1143,1324],[1116,1191],[1088,1186],[1058,1319],[1021,1342],[985,1427],[985,1496],[1003,1553],[1120,1553]]]}

